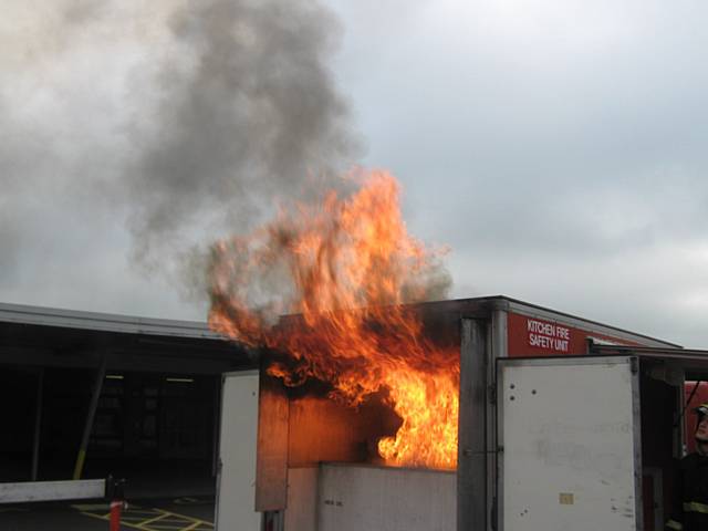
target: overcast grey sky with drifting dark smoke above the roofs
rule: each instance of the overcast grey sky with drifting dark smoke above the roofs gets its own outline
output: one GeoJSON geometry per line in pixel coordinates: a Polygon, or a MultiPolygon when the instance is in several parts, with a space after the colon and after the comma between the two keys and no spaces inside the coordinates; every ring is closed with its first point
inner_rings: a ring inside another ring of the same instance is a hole
{"type": "Polygon", "coordinates": [[[204,320],[185,257],[362,164],[450,246],[452,296],[708,347],[701,2],[3,11],[2,302],[204,320]]]}

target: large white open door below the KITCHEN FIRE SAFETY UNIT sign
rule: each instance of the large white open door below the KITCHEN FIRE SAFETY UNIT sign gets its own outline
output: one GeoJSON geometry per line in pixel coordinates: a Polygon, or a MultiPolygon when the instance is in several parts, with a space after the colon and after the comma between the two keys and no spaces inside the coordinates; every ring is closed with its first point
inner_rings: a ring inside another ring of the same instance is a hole
{"type": "Polygon", "coordinates": [[[638,361],[498,361],[498,529],[643,528],[638,361]]]}

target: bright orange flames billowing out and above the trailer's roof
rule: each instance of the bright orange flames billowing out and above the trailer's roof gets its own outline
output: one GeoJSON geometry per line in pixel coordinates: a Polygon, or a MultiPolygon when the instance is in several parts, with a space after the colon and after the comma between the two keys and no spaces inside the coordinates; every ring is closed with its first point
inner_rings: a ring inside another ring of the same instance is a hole
{"type": "Polygon", "coordinates": [[[440,280],[442,250],[408,235],[399,185],[385,171],[357,192],[298,205],[248,237],[212,249],[209,323],[294,364],[270,374],[287,385],[329,382],[351,406],[384,391],[403,419],[378,441],[386,464],[456,467],[459,356],[426,339],[409,302],[440,280]],[[278,320],[278,315],[299,314],[278,320]],[[294,366],[293,366],[294,365],[294,366]]]}

